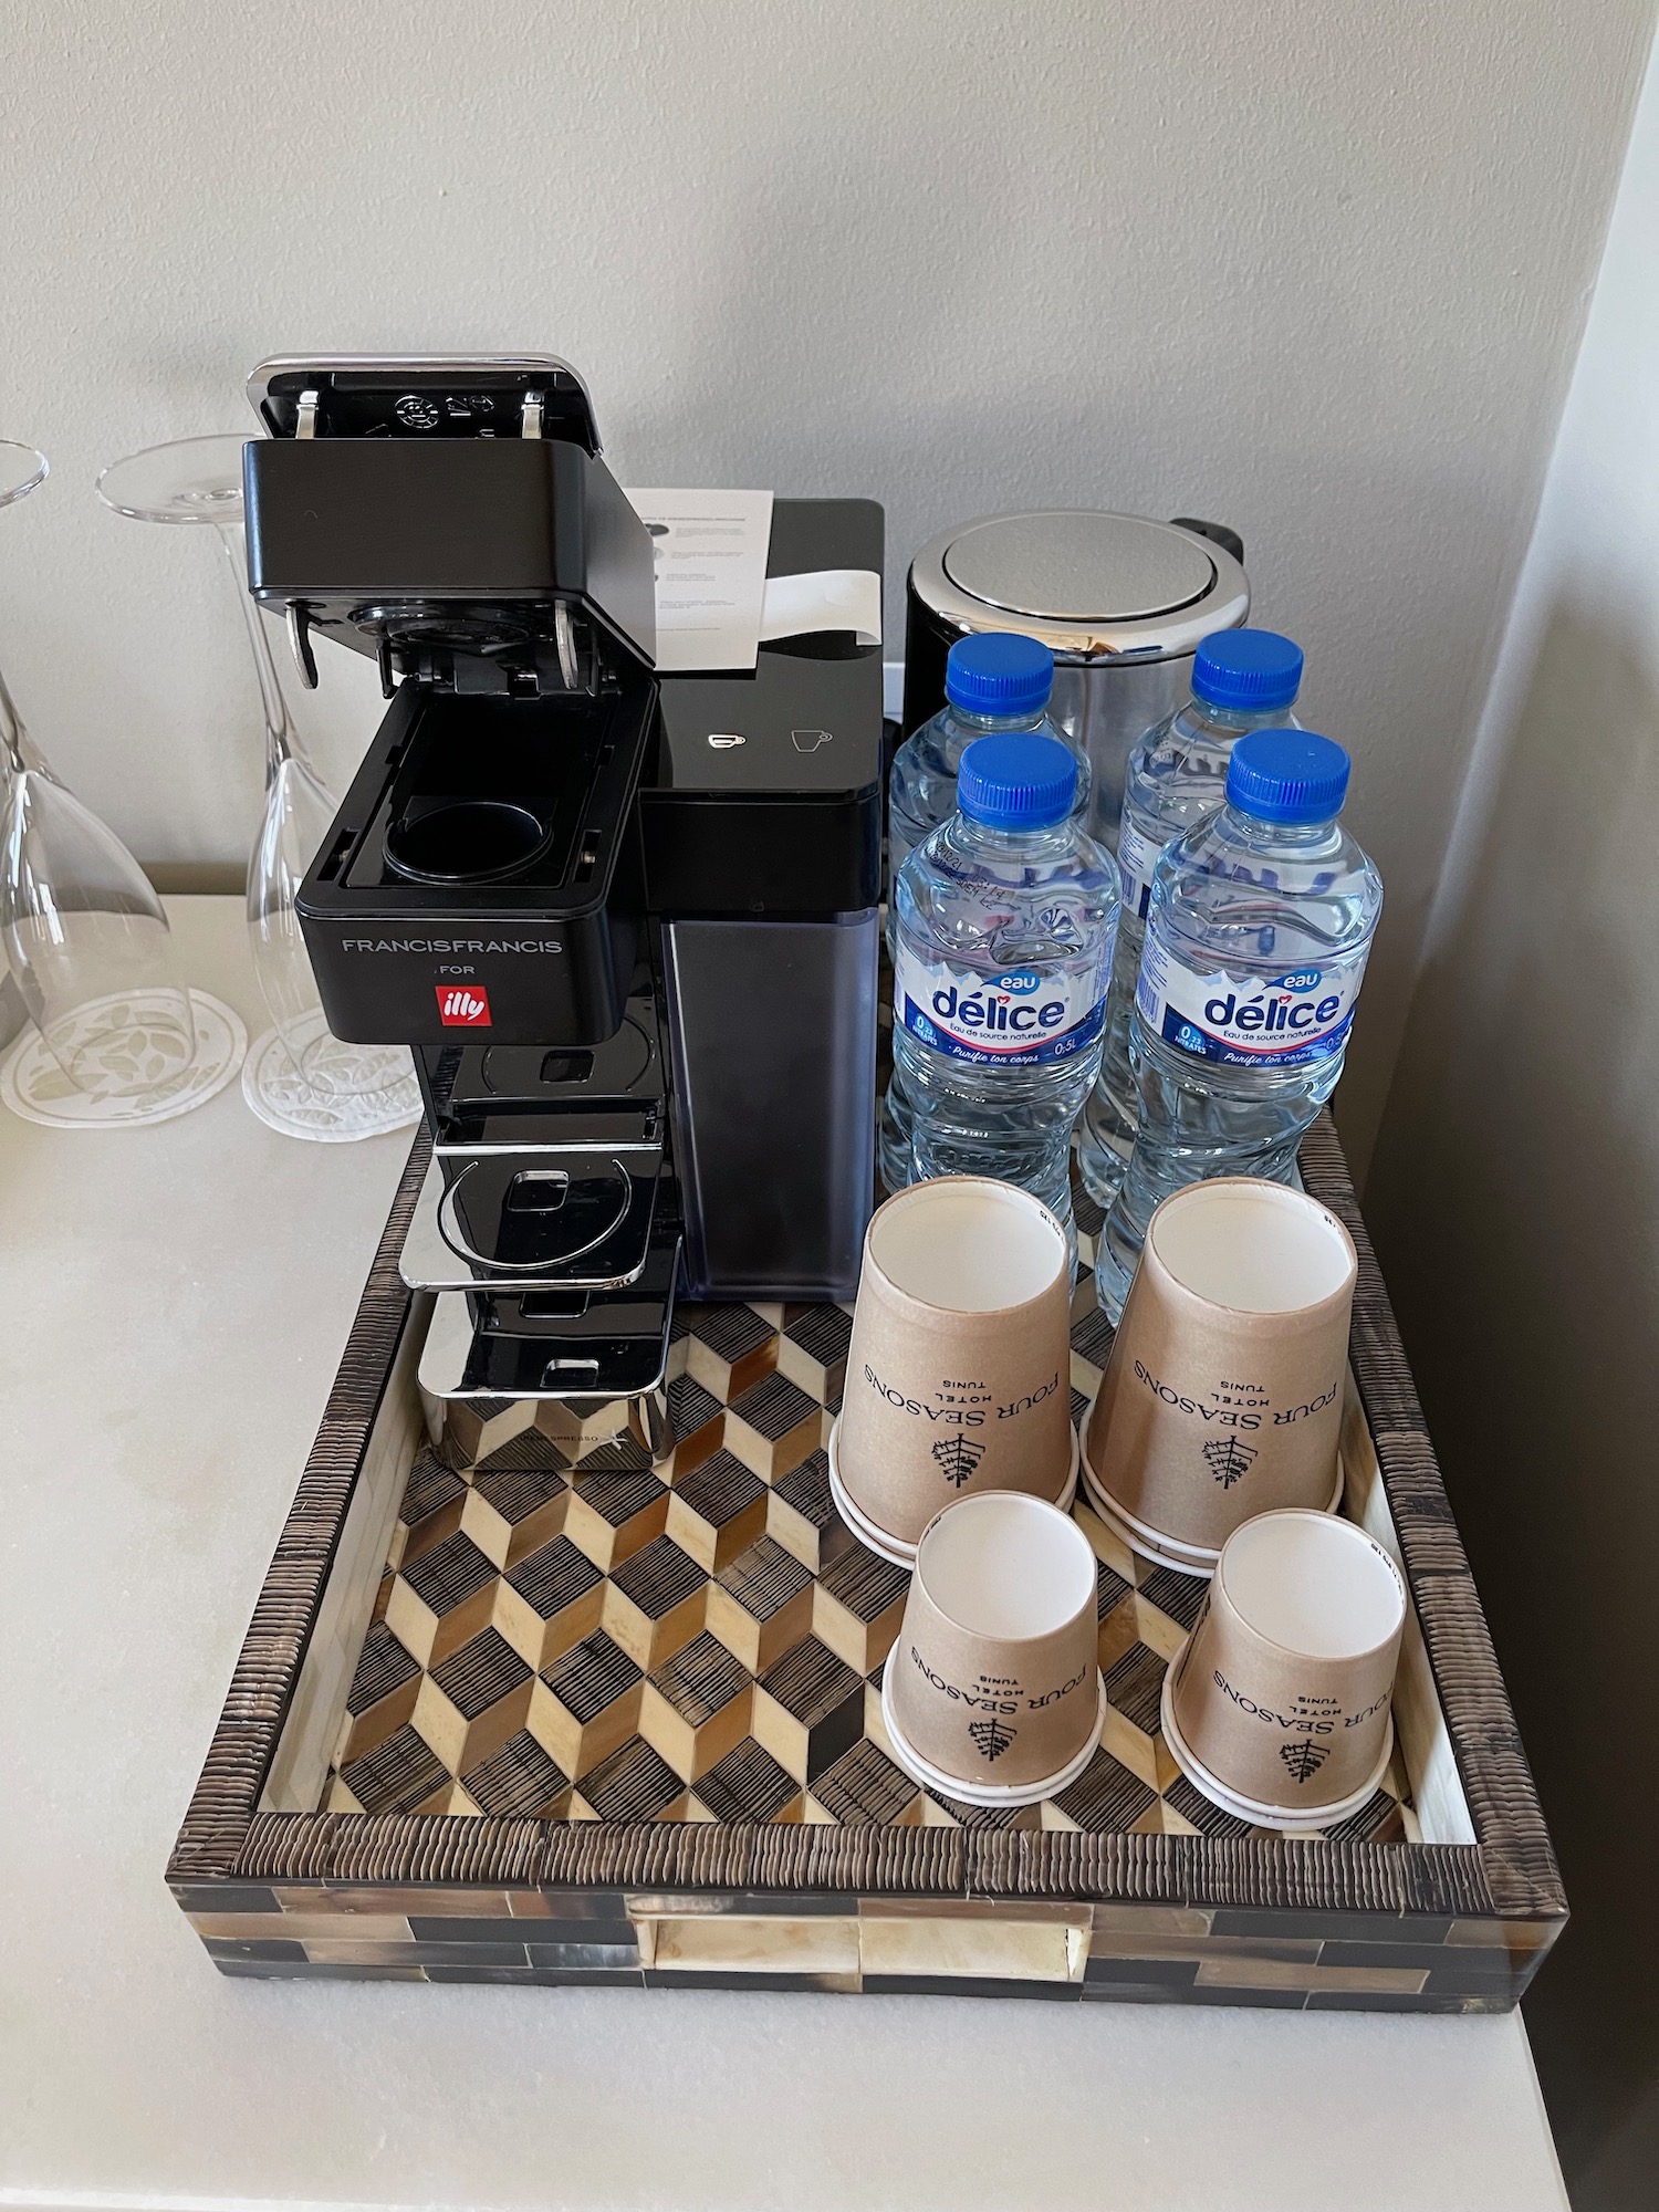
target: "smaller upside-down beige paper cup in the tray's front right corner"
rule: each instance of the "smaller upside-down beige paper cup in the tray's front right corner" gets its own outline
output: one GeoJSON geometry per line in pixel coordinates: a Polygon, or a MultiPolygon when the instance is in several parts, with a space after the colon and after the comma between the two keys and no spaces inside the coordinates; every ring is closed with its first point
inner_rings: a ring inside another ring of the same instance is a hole
{"type": "Polygon", "coordinates": [[[1164,1734],[1177,1765],[1243,1818],[1358,1812],[1394,1741],[1405,1608],[1400,1568],[1354,1522],[1307,1511],[1245,1522],[1170,1666],[1164,1734]]]}

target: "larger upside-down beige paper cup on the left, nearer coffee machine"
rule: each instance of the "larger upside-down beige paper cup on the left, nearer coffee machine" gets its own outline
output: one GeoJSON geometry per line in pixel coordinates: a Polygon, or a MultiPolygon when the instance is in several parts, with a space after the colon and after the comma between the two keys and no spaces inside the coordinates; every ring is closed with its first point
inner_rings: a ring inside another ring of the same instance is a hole
{"type": "Polygon", "coordinates": [[[1068,1310],[1066,1232],[1026,1190],[951,1175],[887,1199],[830,1440],[836,1502],[865,1542],[909,1559],[956,1498],[1066,1495],[1068,1310]]]}

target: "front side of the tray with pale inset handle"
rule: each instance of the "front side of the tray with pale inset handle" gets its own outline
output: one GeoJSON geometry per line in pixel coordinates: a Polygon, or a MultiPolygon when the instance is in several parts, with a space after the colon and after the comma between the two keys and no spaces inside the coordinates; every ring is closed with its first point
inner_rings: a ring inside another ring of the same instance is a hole
{"type": "MultiPolygon", "coordinates": [[[[407,1823],[405,1823],[407,1825],[407,1823]]],[[[478,1823],[427,1823],[469,1827],[478,1823]]],[[[341,1838],[336,1838],[341,1840],[341,1838]]],[[[429,1871],[442,1874],[440,1838],[429,1871]]],[[[509,1838],[493,1838],[495,1849],[509,1838]]],[[[369,1847],[372,1838],[361,1838],[369,1847]]],[[[465,1843],[462,1843],[465,1847],[465,1843]]],[[[1462,1854],[1473,1856],[1473,1854],[1462,1854]]],[[[354,1860],[347,1847],[334,1865],[354,1860]]],[[[1252,1902],[290,1880],[186,1898],[223,1973],[1491,2013],[1551,1927],[1252,1902]]],[[[1091,1871],[1091,1869],[1079,1869],[1091,1871]]],[[[1455,1869],[1449,1869],[1455,1887],[1455,1869]]],[[[1340,1882],[1338,1882],[1340,1887],[1340,1882]]]]}

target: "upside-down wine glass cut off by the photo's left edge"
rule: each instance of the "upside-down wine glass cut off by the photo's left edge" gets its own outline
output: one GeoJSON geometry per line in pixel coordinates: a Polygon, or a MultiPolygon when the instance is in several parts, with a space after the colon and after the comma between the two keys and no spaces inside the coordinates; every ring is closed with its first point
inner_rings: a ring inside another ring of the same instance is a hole
{"type": "MultiPolygon", "coordinates": [[[[0,442],[0,507],[46,478],[33,447],[0,442]]],[[[133,854],[66,790],[0,677],[0,936],[35,1029],[75,1091],[168,1093],[195,1062],[190,993],[168,918],[133,854]]]]}

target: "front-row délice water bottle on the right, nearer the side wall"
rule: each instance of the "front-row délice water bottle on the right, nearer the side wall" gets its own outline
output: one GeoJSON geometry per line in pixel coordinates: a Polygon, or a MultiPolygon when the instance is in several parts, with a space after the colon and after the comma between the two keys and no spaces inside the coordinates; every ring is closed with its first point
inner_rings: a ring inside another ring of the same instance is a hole
{"type": "Polygon", "coordinates": [[[1383,911],[1338,821],[1347,776],[1327,737],[1252,730],[1225,805],[1152,872],[1128,1046],[1141,1128],[1097,1261],[1113,1321],[1155,1206],[1212,1175],[1287,1183],[1336,1088],[1383,911]]]}

